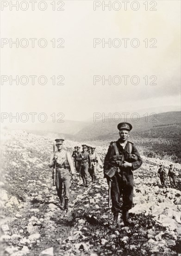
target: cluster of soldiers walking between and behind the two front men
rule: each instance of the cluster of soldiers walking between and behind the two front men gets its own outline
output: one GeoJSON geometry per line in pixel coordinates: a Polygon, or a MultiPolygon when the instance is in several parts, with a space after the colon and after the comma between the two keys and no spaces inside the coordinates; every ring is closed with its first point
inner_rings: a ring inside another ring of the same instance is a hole
{"type": "Polygon", "coordinates": [[[83,186],[88,187],[88,174],[91,176],[92,182],[95,182],[98,164],[102,168],[100,156],[96,154],[95,147],[83,144],[82,151],[79,146],[75,147],[72,157],[75,162],[75,170],[79,173],[79,177],[82,178],[83,186]]]}

